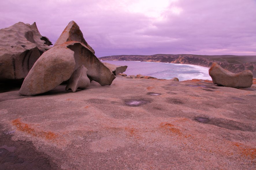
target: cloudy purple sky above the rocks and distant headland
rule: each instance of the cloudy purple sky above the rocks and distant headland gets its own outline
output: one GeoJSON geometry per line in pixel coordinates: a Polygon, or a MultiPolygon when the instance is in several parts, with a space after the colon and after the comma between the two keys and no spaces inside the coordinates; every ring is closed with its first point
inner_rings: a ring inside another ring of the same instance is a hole
{"type": "Polygon", "coordinates": [[[97,57],[256,55],[256,0],[6,0],[0,28],[36,22],[53,43],[74,20],[97,57]]]}

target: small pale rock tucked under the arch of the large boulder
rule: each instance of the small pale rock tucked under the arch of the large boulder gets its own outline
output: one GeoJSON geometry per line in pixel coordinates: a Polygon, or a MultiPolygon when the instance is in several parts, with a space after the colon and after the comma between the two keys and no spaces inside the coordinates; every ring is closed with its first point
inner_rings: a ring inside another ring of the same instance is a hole
{"type": "Polygon", "coordinates": [[[68,80],[66,91],[71,89],[75,92],[77,88],[85,89],[88,87],[90,85],[90,79],[86,75],[87,71],[84,65],[77,68],[68,80]]]}

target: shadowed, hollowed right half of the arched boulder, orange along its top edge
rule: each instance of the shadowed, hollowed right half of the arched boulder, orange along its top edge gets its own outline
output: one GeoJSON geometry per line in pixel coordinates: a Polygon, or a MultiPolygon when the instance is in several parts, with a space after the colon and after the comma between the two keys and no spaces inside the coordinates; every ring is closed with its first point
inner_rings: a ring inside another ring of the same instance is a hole
{"type": "Polygon", "coordinates": [[[82,43],[66,42],[60,46],[66,46],[75,52],[75,70],[84,65],[88,71],[87,76],[100,85],[111,85],[116,78],[114,74],[82,43]]]}

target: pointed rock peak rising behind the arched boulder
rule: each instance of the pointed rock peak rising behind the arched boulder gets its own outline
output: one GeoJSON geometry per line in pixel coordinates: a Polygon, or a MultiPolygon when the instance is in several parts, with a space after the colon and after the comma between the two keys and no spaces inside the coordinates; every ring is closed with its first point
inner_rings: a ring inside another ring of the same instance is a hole
{"type": "Polygon", "coordinates": [[[75,23],[75,21],[71,21],[68,23],[60,37],[57,39],[54,46],[63,44],[67,41],[77,41],[83,43],[84,45],[86,45],[86,47],[88,47],[88,49],[93,52],[93,54],[95,53],[92,47],[85,41],[83,33],[77,23],[75,23]]]}

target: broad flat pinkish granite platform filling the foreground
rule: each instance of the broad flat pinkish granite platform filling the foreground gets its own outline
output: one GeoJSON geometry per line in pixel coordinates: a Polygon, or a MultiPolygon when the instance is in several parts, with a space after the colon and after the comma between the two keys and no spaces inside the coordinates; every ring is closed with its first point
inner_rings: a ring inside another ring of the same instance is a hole
{"type": "MultiPolygon", "coordinates": [[[[33,97],[0,93],[0,128],[15,130],[0,131],[0,148],[24,141],[17,156],[57,164],[45,170],[256,169],[256,84],[236,89],[117,76],[111,86],[92,81],[76,93],[65,87],[33,97]]],[[[21,169],[11,163],[0,167],[21,169]]]]}

